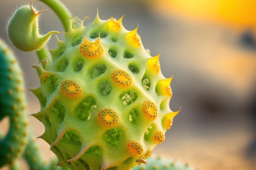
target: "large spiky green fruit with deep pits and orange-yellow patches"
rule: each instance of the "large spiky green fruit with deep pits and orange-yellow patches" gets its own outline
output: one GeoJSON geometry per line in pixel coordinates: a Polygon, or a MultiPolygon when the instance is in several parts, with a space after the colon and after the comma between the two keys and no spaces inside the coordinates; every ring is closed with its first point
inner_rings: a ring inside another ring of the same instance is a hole
{"type": "Polygon", "coordinates": [[[178,113],[169,108],[171,78],[162,75],[159,55],[151,57],[137,28],[127,31],[121,19],[97,14],[83,26],[71,18],[52,64],[41,68],[34,117],[45,125],[41,138],[59,166],[128,170],[164,141],[178,113]]]}

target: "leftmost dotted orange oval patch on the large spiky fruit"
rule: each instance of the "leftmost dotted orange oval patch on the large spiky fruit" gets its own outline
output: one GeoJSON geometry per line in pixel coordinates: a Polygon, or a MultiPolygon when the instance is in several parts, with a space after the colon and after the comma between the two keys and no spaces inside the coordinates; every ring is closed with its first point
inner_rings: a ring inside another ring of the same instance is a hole
{"type": "Polygon", "coordinates": [[[79,97],[82,93],[79,84],[73,80],[64,80],[61,82],[60,90],[66,97],[79,97]]]}

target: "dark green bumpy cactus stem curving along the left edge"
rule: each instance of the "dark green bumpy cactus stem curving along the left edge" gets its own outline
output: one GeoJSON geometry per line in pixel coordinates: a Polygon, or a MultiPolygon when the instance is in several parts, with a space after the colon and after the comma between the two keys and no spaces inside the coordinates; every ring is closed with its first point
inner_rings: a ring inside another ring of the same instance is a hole
{"type": "Polygon", "coordinates": [[[0,40],[0,120],[9,117],[9,131],[0,139],[0,167],[14,164],[27,143],[27,110],[21,69],[11,49],[0,40]]]}

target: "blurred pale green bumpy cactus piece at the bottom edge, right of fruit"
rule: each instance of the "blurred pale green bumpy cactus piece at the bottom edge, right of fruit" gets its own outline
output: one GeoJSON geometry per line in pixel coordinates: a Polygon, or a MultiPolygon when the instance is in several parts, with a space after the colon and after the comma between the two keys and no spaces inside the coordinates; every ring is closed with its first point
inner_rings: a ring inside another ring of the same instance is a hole
{"type": "Polygon", "coordinates": [[[189,164],[182,164],[178,161],[161,157],[150,157],[147,162],[148,164],[139,165],[131,170],[196,170],[189,164]]]}

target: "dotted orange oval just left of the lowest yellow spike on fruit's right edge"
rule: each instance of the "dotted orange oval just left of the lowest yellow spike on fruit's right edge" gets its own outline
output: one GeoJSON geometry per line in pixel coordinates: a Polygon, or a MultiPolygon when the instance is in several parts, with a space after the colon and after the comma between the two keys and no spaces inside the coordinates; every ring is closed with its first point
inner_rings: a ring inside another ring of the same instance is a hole
{"type": "Polygon", "coordinates": [[[158,115],[158,109],[154,102],[146,100],[143,102],[143,113],[149,120],[154,120],[158,115]]]}

